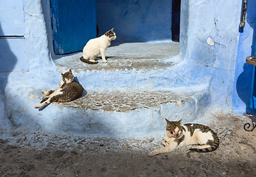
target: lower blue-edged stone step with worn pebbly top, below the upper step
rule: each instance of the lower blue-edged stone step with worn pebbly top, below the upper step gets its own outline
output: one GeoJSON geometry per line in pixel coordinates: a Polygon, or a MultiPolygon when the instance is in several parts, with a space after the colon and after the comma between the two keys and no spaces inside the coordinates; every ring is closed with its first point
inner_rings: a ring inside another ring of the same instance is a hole
{"type": "Polygon", "coordinates": [[[87,91],[71,103],[33,108],[41,98],[39,90],[7,97],[9,119],[27,129],[87,136],[149,136],[163,133],[166,119],[193,122],[209,105],[209,91],[198,86],[173,91],[87,91]],[[25,104],[24,101],[25,100],[25,104]],[[15,106],[13,106],[15,105],[15,106]]]}

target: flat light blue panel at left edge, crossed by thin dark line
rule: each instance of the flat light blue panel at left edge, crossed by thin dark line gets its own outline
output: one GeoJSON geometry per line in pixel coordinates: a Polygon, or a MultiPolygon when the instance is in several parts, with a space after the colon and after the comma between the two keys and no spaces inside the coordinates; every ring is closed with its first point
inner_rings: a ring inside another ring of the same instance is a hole
{"type": "Polygon", "coordinates": [[[23,1],[0,4],[0,72],[28,71],[23,1]]]}

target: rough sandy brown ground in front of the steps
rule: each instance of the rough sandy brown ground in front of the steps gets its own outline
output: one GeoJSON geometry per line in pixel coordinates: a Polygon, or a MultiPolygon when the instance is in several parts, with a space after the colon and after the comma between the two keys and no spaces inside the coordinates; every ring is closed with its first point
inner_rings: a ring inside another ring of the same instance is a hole
{"type": "Polygon", "coordinates": [[[188,153],[189,147],[183,147],[154,157],[147,154],[162,146],[164,136],[0,132],[0,176],[255,176],[256,131],[243,130],[249,119],[234,114],[213,118],[210,126],[220,137],[214,152],[188,153]]]}

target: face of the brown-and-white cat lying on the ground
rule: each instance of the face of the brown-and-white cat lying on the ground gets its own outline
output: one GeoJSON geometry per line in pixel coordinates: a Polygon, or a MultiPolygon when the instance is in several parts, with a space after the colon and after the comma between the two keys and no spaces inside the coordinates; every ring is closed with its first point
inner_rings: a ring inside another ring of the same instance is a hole
{"type": "Polygon", "coordinates": [[[166,135],[178,138],[182,133],[181,119],[178,122],[166,120],[166,135]]]}

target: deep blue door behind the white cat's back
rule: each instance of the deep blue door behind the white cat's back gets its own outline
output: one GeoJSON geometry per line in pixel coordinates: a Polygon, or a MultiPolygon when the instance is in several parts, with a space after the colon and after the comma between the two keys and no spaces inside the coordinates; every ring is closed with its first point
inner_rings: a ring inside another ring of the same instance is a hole
{"type": "Polygon", "coordinates": [[[55,54],[78,52],[96,37],[95,0],[51,0],[55,54]]]}

